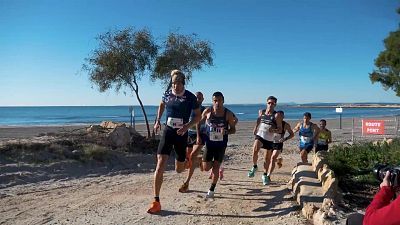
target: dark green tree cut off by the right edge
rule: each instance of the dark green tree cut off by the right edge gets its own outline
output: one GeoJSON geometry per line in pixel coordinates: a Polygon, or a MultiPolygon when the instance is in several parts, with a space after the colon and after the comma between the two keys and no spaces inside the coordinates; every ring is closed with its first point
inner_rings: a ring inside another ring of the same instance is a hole
{"type": "MultiPolygon", "coordinates": [[[[400,14],[400,8],[397,13],[400,14]]],[[[379,82],[385,90],[392,89],[400,97],[400,29],[390,32],[384,44],[385,50],[375,59],[377,68],[369,78],[372,83],[379,82]]]]}

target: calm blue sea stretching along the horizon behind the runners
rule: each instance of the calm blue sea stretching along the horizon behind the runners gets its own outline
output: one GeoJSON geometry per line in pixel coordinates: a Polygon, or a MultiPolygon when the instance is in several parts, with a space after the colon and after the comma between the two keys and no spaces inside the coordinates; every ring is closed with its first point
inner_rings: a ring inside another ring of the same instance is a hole
{"type": "MultiPolygon", "coordinates": [[[[205,105],[207,106],[207,105],[205,105]]],[[[225,105],[236,114],[239,121],[255,121],[258,110],[265,104],[225,105]]],[[[320,104],[319,104],[320,106],[320,104]]],[[[145,106],[147,118],[153,123],[158,106],[145,106]]],[[[304,112],[310,112],[313,119],[339,118],[335,107],[279,106],[276,110],[285,112],[286,120],[300,120],[304,112]]],[[[400,108],[343,108],[342,118],[368,118],[400,115],[400,108]]],[[[165,113],[164,113],[165,116],[165,113]]],[[[64,126],[99,124],[105,120],[115,122],[144,123],[140,106],[21,106],[0,107],[0,126],[64,126]]]]}

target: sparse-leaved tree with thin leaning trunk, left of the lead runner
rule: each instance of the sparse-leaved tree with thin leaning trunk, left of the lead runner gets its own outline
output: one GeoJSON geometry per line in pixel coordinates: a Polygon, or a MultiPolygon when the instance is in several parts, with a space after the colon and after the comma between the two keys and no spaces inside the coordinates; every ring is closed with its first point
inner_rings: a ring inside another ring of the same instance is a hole
{"type": "Polygon", "coordinates": [[[147,29],[127,28],[109,31],[98,36],[99,46],[86,58],[83,69],[88,71],[90,81],[100,92],[122,87],[131,89],[140,104],[150,137],[147,114],[139,96],[138,81],[152,71],[158,46],[147,29]]]}

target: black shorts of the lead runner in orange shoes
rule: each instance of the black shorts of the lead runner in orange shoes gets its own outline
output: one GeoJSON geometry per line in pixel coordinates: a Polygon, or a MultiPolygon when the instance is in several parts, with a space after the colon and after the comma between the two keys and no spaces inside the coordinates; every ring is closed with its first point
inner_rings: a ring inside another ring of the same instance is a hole
{"type": "Polygon", "coordinates": [[[170,155],[172,149],[175,150],[176,160],[185,162],[186,159],[186,146],[187,146],[187,132],[180,136],[176,133],[177,129],[165,126],[163,134],[158,145],[157,154],[170,155]]]}

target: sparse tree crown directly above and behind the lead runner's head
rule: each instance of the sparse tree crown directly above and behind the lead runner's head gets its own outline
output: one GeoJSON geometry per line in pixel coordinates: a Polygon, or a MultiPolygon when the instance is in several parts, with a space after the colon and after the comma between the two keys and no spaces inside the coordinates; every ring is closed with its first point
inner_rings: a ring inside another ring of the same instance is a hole
{"type": "Polygon", "coordinates": [[[196,34],[182,35],[170,33],[163,43],[163,52],[157,57],[151,79],[161,80],[167,90],[171,87],[170,72],[179,69],[185,73],[187,80],[192,72],[204,65],[213,65],[211,43],[200,40],[196,34]]]}

